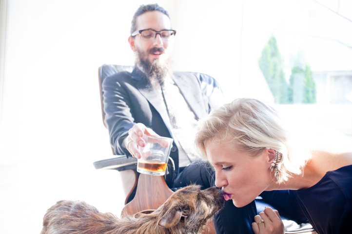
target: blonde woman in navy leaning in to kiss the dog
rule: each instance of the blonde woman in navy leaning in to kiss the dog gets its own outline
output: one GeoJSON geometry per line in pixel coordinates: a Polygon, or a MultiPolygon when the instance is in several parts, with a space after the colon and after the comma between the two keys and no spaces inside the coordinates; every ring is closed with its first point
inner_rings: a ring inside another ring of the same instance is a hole
{"type": "MultiPolygon", "coordinates": [[[[236,207],[263,191],[288,190],[318,234],[352,232],[351,152],[293,148],[276,111],[255,99],[236,99],[199,127],[196,145],[215,169],[215,185],[236,207]]],[[[252,228],[284,233],[279,214],[268,207],[254,216],[252,228]]]]}

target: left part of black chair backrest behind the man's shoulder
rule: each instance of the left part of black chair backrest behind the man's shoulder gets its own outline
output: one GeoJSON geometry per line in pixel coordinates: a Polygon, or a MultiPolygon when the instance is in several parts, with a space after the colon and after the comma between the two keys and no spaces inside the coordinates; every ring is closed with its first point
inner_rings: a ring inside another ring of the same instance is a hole
{"type": "Polygon", "coordinates": [[[108,76],[116,74],[117,72],[132,72],[133,66],[124,66],[124,65],[114,65],[114,64],[104,64],[101,65],[98,69],[98,78],[99,78],[99,93],[100,93],[100,105],[101,105],[101,116],[103,119],[103,124],[107,128],[105,123],[105,113],[104,113],[104,104],[103,104],[103,91],[101,85],[104,79],[108,76]]]}

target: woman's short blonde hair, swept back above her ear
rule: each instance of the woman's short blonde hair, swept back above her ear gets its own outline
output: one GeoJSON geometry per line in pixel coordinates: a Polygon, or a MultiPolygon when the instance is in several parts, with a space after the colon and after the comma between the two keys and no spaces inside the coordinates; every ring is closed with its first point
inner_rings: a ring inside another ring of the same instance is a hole
{"type": "Polygon", "coordinates": [[[278,179],[281,183],[292,174],[301,174],[304,159],[296,160],[289,154],[287,131],[283,127],[277,112],[256,99],[240,98],[213,110],[199,121],[196,135],[196,147],[206,159],[207,141],[231,139],[239,150],[255,156],[265,148],[282,153],[278,162],[278,179]]]}

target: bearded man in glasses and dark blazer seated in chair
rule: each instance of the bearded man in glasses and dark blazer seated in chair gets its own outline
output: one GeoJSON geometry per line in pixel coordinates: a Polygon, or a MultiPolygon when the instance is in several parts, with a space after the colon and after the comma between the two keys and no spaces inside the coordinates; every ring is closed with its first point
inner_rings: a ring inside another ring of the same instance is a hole
{"type": "MultiPolygon", "coordinates": [[[[214,171],[198,163],[194,149],[196,122],[221,104],[214,78],[195,72],[173,72],[170,53],[176,30],[169,14],[157,4],[141,5],[135,13],[128,41],[136,54],[132,72],[118,72],[102,84],[105,122],[117,155],[140,157],[144,134],[174,139],[174,187],[191,183],[215,186],[214,171]]],[[[240,209],[231,201],[215,217],[217,234],[252,234],[247,217],[256,215],[254,202],[240,209]],[[233,220],[239,225],[234,225],[233,220]],[[229,221],[227,221],[229,220],[229,221]]]]}

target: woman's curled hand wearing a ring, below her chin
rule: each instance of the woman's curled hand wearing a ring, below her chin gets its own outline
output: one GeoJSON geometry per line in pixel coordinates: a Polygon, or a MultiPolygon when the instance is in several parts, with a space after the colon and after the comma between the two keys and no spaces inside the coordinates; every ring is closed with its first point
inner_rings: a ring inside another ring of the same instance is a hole
{"type": "Polygon", "coordinates": [[[284,224],[277,210],[265,207],[264,212],[254,216],[254,234],[284,234],[284,224]]]}

